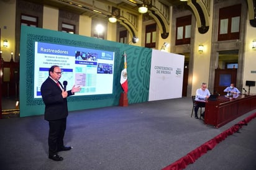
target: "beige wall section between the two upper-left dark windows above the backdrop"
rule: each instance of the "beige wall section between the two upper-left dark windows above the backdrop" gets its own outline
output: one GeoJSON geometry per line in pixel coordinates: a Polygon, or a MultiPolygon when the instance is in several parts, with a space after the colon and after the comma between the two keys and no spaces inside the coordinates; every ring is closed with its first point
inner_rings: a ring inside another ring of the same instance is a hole
{"type": "Polygon", "coordinates": [[[43,6],[43,29],[58,30],[58,9],[43,6]]]}

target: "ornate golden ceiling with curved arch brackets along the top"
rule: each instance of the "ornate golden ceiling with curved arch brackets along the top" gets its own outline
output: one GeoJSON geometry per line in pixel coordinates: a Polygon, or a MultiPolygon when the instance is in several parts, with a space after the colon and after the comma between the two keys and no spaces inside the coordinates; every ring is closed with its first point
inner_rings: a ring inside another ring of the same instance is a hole
{"type": "MultiPolygon", "coordinates": [[[[209,6],[211,0],[188,0],[186,2],[180,0],[24,0],[57,7],[65,11],[71,11],[76,14],[89,17],[99,17],[107,19],[113,15],[113,8],[119,10],[117,21],[128,28],[130,34],[137,37],[139,15],[138,7],[141,4],[147,4],[149,7],[149,15],[153,17],[160,28],[163,39],[169,35],[168,27],[170,25],[169,14],[170,6],[190,6],[196,22],[198,31],[201,34],[208,32],[209,27],[209,6]]],[[[247,0],[249,6],[250,24],[256,27],[255,21],[255,0],[247,0]],[[251,9],[251,10],[250,10],[251,9]],[[253,18],[254,17],[254,18],[253,18]]]]}

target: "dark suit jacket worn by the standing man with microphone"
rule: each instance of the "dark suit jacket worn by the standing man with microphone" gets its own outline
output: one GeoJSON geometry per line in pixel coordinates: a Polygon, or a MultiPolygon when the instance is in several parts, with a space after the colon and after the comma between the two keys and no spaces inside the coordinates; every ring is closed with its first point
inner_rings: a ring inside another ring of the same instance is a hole
{"type": "MultiPolygon", "coordinates": [[[[62,86],[61,83],[60,85],[62,86]]],[[[71,90],[67,92],[68,96],[73,95],[71,90]]],[[[64,119],[68,116],[68,104],[66,98],[62,97],[62,90],[50,77],[43,82],[41,86],[41,94],[43,102],[45,103],[45,120],[64,119]]]]}

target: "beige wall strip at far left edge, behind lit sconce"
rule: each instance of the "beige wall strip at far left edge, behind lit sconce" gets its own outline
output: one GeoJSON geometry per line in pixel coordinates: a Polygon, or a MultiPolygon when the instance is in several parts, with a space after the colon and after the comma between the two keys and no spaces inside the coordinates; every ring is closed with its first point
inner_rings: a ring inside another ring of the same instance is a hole
{"type": "Polygon", "coordinates": [[[4,61],[11,60],[11,52],[15,53],[15,19],[16,1],[0,1],[1,51],[4,61]],[[2,47],[3,40],[8,41],[8,47],[2,47]]]}

